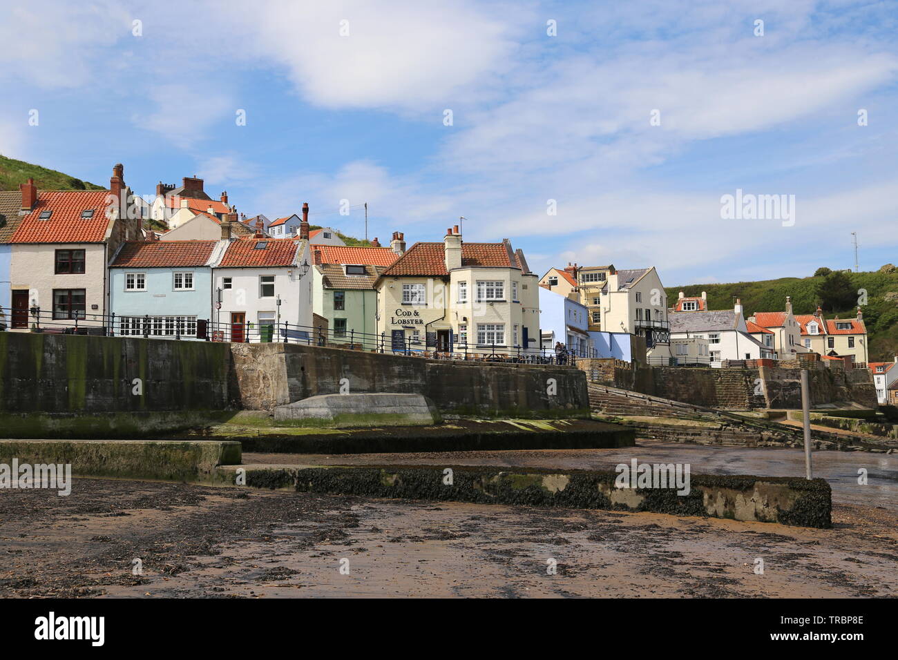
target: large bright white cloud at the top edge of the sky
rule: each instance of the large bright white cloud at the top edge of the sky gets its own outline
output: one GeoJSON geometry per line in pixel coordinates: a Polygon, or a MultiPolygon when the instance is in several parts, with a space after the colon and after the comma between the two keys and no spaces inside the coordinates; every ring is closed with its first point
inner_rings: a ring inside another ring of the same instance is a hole
{"type": "MultiPolygon", "coordinates": [[[[245,21],[246,4],[229,9],[216,9],[219,19],[245,21]]],[[[251,11],[239,51],[283,66],[307,101],[416,110],[460,102],[462,88],[506,66],[511,32],[527,13],[469,0],[284,0],[251,11]]]]}

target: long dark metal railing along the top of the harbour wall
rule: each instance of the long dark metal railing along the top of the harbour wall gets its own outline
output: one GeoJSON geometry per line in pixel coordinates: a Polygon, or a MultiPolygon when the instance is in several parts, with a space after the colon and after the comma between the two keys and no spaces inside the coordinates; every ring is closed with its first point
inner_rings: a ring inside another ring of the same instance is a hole
{"type": "Polygon", "coordinates": [[[0,307],[0,330],[31,330],[56,334],[101,335],[144,339],[198,340],[232,343],[286,343],[348,348],[376,353],[427,357],[429,359],[506,362],[509,364],[574,365],[577,357],[598,357],[593,348],[524,348],[490,342],[471,344],[437,339],[436,332],[418,339],[386,332],[305,326],[287,321],[213,321],[188,314],[124,315],[82,311],[46,312],[40,307],[0,307]]]}

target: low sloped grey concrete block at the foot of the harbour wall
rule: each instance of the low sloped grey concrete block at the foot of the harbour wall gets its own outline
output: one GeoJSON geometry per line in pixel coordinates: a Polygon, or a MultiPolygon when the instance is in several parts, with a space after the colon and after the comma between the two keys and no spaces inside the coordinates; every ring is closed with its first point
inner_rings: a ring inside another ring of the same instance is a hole
{"type": "Polygon", "coordinates": [[[275,408],[278,422],[310,427],[418,427],[442,419],[422,394],[320,394],[275,408]]]}

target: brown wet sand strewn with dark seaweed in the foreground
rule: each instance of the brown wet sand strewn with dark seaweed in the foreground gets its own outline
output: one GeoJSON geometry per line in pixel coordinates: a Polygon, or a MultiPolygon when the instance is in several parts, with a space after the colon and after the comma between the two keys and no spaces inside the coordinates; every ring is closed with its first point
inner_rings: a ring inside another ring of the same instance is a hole
{"type": "Polygon", "coordinates": [[[0,491],[0,596],[898,595],[894,510],[839,504],[833,522],[75,480],[0,491]]]}

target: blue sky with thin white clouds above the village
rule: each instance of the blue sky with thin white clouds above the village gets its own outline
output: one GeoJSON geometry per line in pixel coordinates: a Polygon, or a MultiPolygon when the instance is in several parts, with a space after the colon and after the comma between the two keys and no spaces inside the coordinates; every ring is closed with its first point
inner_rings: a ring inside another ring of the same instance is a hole
{"type": "Polygon", "coordinates": [[[898,263],[898,1],[0,0],[0,19],[0,154],[93,183],[197,175],[247,216],[308,202],[358,237],[367,203],[368,237],[409,245],[463,216],[539,275],[806,277],[851,268],[852,232],[860,269],[898,263]],[[737,194],[782,206],[727,214],[737,194]]]}

